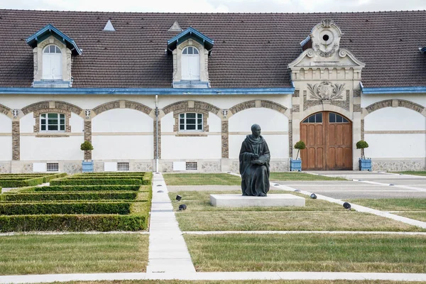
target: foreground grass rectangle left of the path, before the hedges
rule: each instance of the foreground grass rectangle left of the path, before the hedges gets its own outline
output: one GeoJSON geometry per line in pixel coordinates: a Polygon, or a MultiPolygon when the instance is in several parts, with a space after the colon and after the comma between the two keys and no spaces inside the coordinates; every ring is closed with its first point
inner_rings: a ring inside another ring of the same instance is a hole
{"type": "Polygon", "coordinates": [[[0,274],[145,272],[148,235],[0,236],[0,274]]]}

